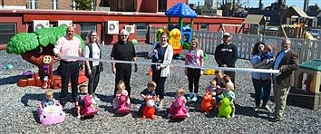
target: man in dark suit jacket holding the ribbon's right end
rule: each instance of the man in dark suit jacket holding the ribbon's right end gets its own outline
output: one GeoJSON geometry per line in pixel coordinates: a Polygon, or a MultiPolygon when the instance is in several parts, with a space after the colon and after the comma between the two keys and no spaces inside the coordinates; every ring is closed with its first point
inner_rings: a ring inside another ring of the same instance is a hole
{"type": "Polygon", "coordinates": [[[274,118],[270,121],[283,120],[283,113],[287,104],[287,94],[291,86],[294,85],[294,71],[298,68],[298,55],[290,47],[290,40],[284,39],[282,41],[282,50],[277,53],[276,61],[272,66],[274,70],[279,70],[280,73],[273,77],[273,92],[276,107],[274,118]]]}

